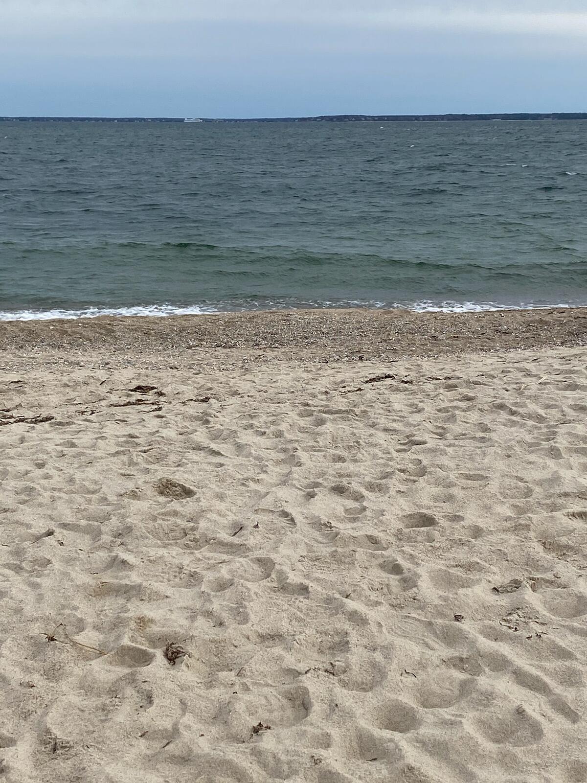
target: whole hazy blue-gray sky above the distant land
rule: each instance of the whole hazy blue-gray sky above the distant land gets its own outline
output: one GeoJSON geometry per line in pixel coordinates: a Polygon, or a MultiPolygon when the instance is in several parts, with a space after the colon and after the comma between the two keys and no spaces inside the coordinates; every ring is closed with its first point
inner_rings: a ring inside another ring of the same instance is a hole
{"type": "Polygon", "coordinates": [[[587,111],[587,0],[0,0],[0,116],[587,111]]]}

